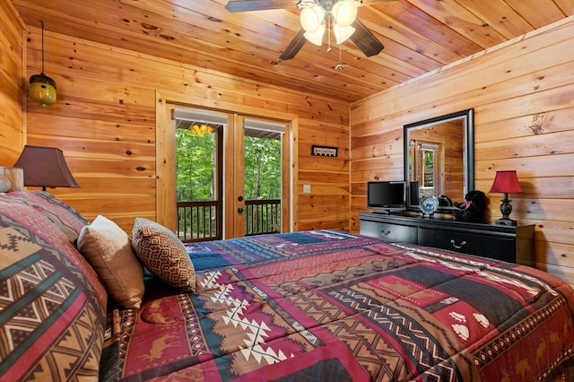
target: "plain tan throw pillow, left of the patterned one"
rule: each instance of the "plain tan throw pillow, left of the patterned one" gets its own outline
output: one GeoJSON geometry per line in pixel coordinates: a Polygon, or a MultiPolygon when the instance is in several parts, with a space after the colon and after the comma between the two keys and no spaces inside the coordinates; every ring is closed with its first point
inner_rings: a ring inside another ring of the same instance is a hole
{"type": "Polygon", "coordinates": [[[96,270],[112,299],[124,308],[140,307],[143,265],[124,230],[99,215],[80,231],[78,249],[96,270]]]}

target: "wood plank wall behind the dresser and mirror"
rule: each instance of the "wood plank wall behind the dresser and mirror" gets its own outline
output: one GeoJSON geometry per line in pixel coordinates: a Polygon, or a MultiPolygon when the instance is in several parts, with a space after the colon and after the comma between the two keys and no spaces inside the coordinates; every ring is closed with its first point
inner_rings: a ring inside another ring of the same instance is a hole
{"type": "MultiPolygon", "coordinates": [[[[402,177],[404,124],[474,108],[475,188],[516,169],[511,216],[535,223],[536,266],[574,284],[573,30],[570,17],[353,104],[352,230],[365,183],[402,177]]],[[[491,220],[501,196],[490,195],[491,220]]]]}

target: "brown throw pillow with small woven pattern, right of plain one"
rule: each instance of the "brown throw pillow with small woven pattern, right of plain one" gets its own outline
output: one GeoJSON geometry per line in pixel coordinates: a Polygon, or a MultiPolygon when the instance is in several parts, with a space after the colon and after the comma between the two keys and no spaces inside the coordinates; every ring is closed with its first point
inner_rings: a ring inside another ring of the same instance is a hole
{"type": "Polygon", "coordinates": [[[183,291],[196,291],[196,271],[178,237],[154,221],[135,218],[132,247],[143,265],[162,282],[183,291]]]}

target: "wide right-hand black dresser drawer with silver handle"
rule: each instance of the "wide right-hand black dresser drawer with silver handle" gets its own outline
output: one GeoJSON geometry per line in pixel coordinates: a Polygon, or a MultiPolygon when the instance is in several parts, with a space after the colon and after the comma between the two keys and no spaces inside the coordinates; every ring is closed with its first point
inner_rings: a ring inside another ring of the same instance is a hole
{"type": "Polygon", "coordinates": [[[487,233],[472,234],[456,230],[419,228],[418,242],[426,247],[438,247],[469,255],[516,262],[516,247],[513,238],[487,233]]]}

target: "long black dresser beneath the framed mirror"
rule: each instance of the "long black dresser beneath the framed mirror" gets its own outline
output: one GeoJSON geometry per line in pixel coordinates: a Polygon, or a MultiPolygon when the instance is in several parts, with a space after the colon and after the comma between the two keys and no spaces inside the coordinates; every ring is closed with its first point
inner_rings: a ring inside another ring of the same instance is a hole
{"type": "Polygon", "coordinates": [[[535,225],[516,227],[418,215],[359,213],[361,235],[534,265],[535,225]]]}

